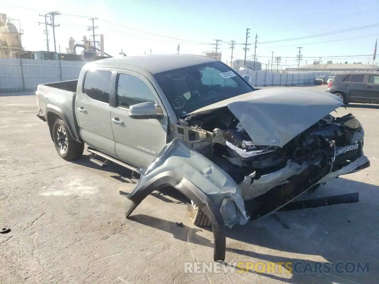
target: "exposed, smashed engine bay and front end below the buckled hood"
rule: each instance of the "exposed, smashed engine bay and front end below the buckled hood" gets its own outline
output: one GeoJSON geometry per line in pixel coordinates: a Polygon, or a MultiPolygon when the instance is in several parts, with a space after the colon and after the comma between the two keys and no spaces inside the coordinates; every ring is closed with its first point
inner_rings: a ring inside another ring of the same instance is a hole
{"type": "Polygon", "coordinates": [[[177,138],[218,165],[239,185],[245,201],[282,188],[309,162],[331,152],[332,169],[310,190],[369,166],[362,150],[364,131],[352,114],[326,115],[283,147],[256,145],[228,108],[180,119],[175,128],[177,138]]]}

